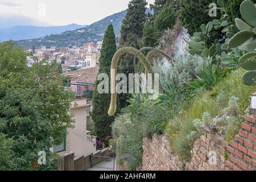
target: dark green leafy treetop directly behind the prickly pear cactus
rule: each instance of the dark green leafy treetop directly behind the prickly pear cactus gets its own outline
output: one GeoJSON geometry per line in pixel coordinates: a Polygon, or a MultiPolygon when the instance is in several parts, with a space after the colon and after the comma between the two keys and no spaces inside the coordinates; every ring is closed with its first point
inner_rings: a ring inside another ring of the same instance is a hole
{"type": "Polygon", "coordinates": [[[218,17],[210,17],[208,15],[207,10],[209,9],[210,3],[216,3],[216,1],[180,0],[179,19],[183,26],[188,29],[190,35],[200,31],[201,24],[207,24],[213,19],[220,18],[220,13],[217,14],[218,17]]]}

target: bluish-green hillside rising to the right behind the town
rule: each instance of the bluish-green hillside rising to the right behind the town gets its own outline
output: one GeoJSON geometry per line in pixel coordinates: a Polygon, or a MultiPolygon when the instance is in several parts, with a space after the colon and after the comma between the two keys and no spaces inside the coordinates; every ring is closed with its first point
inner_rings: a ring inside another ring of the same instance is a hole
{"type": "Polygon", "coordinates": [[[126,10],[107,16],[98,22],[77,30],[65,31],[61,34],[52,34],[39,39],[19,40],[15,42],[15,46],[22,46],[24,48],[31,48],[33,46],[82,46],[82,44],[88,42],[88,38],[92,38],[93,41],[101,40],[102,34],[105,33],[106,28],[110,23],[113,24],[115,35],[118,36],[122,25],[122,20],[125,15],[126,10]]]}

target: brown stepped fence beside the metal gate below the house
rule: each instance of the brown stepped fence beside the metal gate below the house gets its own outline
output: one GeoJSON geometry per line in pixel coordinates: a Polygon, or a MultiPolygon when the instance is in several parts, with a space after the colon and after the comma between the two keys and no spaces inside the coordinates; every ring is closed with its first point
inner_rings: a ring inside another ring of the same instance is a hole
{"type": "Polygon", "coordinates": [[[84,171],[86,169],[89,169],[92,167],[92,157],[91,156],[102,156],[102,157],[109,157],[110,152],[108,148],[105,148],[104,150],[101,151],[96,151],[93,154],[89,155],[81,155],[81,156],[76,156],[75,154],[67,154],[63,156],[63,159],[61,160],[59,164],[59,170],[60,171],[84,171]]]}

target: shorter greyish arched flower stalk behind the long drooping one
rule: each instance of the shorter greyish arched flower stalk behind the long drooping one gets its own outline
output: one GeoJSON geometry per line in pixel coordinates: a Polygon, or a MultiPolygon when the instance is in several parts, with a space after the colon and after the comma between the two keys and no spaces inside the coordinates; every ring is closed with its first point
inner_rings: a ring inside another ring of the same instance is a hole
{"type": "Polygon", "coordinates": [[[159,56],[159,55],[163,55],[164,57],[166,57],[167,59],[172,59],[169,55],[167,55],[167,53],[159,50],[159,49],[156,49],[154,47],[143,47],[141,49],[139,49],[139,51],[136,53],[136,55],[134,56],[134,59],[133,59],[133,66],[134,66],[134,71],[135,73],[137,73],[137,57],[140,53],[142,53],[143,51],[149,51],[147,56],[146,56],[146,64],[150,64],[150,67],[151,67],[151,59],[152,57],[155,57],[155,56],[159,56]]]}

